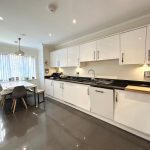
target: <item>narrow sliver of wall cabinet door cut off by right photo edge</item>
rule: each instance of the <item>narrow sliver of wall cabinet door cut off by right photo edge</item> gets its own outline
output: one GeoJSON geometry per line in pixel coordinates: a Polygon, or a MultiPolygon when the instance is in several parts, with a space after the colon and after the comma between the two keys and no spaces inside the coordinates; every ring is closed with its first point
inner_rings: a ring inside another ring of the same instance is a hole
{"type": "Polygon", "coordinates": [[[147,63],[147,64],[150,64],[150,26],[147,27],[146,63],[147,63]]]}

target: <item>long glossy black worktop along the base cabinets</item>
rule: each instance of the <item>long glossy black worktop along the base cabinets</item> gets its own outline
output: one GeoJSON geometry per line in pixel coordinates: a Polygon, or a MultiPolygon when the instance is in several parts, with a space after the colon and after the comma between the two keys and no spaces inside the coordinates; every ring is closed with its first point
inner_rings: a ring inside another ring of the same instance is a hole
{"type": "Polygon", "coordinates": [[[90,85],[92,87],[119,89],[119,90],[124,90],[127,85],[150,87],[150,82],[135,81],[135,80],[106,79],[106,78],[96,78],[95,80],[91,80],[91,78],[88,77],[73,77],[73,76],[67,76],[62,78],[59,77],[51,78],[50,76],[46,76],[45,79],[52,79],[56,81],[90,85]]]}

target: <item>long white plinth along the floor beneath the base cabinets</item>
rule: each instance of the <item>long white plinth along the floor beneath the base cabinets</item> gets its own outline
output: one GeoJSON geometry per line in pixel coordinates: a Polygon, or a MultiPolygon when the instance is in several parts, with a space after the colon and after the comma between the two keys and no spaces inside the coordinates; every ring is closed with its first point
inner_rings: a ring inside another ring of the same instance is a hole
{"type": "Polygon", "coordinates": [[[116,126],[116,127],[120,128],[120,129],[122,129],[122,130],[125,130],[125,131],[127,131],[127,132],[130,132],[130,133],[136,135],[136,136],[139,136],[139,137],[141,137],[141,138],[143,138],[143,139],[146,139],[146,140],[150,141],[150,135],[148,135],[148,134],[145,134],[145,133],[142,133],[142,132],[137,131],[137,130],[135,130],[135,129],[132,129],[132,128],[130,128],[130,127],[124,126],[124,125],[122,125],[122,124],[120,124],[120,123],[117,123],[117,122],[115,122],[115,121],[113,121],[113,120],[109,120],[109,119],[107,119],[107,118],[98,116],[98,115],[96,115],[96,114],[94,114],[94,113],[91,113],[91,112],[89,112],[89,111],[86,111],[86,110],[84,110],[84,109],[81,109],[81,108],[79,108],[79,107],[76,107],[76,106],[74,106],[74,105],[71,105],[71,104],[69,104],[69,103],[66,103],[65,101],[61,101],[61,100],[59,100],[59,99],[57,99],[57,98],[55,98],[55,97],[49,96],[49,95],[47,95],[47,94],[46,94],[45,96],[47,96],[47,97],[49,97],[49,98],[51,98],[51,99],[54,99],[54,100],[56,100],[56,101],[58,101],[58,102],[60,102],[60,103],[63,103],[63,104],[65,104],[65,105],[68,105],[68,106],[70,106],[70,107],[73,107],[73,108],[75,108],[75,109],[77,109],[77,110],[79,110],[79,111],[82,111],[82,112],[84,112],[84,113],[90,115],[90,116],[93,116],[93,117],[95,117],[95,118],[97,118],[97,119],[100,119],[100,120],[102,120],[102,121],[104,121],[104,122],[107,122],[107,123],[109,123],[109,124],[111,124],[111,125],[113,125],[113,126],[116,126]]]}

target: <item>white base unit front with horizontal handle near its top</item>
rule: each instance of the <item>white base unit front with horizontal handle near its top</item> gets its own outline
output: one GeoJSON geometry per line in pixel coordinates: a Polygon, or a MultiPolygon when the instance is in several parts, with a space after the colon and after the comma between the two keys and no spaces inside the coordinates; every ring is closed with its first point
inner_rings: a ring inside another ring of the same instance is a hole
{"type": "Polygon", "coordinates": [[[91,112],[113,120],[113,90],[90,87],[91,112]]]}

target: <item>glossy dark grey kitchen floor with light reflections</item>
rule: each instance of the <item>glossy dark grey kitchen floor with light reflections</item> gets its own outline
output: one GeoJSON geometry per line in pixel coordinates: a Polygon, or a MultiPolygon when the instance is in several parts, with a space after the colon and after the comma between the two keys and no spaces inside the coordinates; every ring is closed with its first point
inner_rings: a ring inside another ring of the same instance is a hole
{"type": "Polygon", "coordinates": [[[0,113],[0,150],[150,150],[150,142],[59,102],[0,113]]]}

